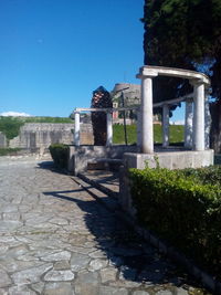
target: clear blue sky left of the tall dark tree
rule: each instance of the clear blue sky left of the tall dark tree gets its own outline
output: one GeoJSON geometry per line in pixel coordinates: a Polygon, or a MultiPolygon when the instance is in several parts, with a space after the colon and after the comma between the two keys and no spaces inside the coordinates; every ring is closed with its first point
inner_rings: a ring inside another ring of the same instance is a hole
{"type": "Polygon", "coordinates": [[[69,116],[139,83],[144,0],[0,0],[0,113],[69,116]]]}

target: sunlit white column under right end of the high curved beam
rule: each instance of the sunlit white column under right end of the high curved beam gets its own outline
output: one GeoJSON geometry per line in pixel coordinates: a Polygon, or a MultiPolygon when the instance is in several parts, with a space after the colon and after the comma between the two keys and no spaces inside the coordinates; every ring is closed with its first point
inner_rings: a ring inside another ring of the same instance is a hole
{"type": "Polygon", "coordinates": [[[193,82],[194,112],[193,112],[193,149],[204,150],[204,84],[193,82]]]}

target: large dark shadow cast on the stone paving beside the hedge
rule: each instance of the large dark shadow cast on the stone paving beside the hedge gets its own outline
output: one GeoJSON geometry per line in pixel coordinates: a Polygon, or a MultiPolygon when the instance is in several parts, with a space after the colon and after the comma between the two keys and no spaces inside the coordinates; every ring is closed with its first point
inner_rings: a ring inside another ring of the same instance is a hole
{"type": "MultiPolygon", "coordinates": [[[[156,249],[138,236],[128,224],[96,200],[84,200],[80,188],[67,191],[44,192],[45,196],[75,202],[85,212],[86,228],[95,236],[97,249],[105,253],[110,264],[119,270],[118,280],[127,280],[147,285],[196,285],[196,282],[156,249]],[[69,193],[76,193],[69,197],[69,193]],[[82,194],[81,194],[82,196],[82,194]]],[[[107,197],[108,198],[108,197],[107,197]]]]}

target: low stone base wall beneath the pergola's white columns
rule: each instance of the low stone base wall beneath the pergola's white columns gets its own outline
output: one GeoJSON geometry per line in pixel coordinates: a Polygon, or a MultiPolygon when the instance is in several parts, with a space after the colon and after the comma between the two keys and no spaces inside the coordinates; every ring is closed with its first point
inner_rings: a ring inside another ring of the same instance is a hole
{"type": "Polygon", "coordinates": [[[155,168],[183,169],[213,165],[213,150],[187,150],[182,147],[156,147],[154,154],[140,154],[139,147],[113,145],[105,146],[70,146],[69,171],[75,176],[86,171],[90,166],[109,167],[124,162],[125,169],[144,169],[146,165],[155,168]],[[108,165],[105,165],[105,164],[108,165]]]}

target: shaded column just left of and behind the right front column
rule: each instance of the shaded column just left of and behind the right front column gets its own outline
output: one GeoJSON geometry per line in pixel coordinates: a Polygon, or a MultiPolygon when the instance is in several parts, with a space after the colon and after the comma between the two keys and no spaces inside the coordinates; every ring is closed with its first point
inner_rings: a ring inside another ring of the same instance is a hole
{"type": "Polygon", "coordinates": [[[192,119],[193,119],[192,99],[187,98],[186,113],[185,113],[185,147],[186,148],[192,148],[192,119]]]}

